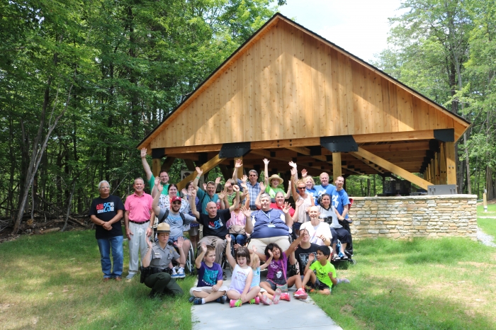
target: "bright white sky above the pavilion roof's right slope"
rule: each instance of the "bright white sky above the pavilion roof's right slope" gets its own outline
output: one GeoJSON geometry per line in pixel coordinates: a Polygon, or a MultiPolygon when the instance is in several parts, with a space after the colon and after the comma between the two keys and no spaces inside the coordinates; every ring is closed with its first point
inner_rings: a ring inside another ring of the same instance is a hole
{"type": "Polygon", "coordinates": [[[400,16],[400,0],[287,0],[286,17],[351,54],[371,62],[388,47],[388,18],[400,16]]]}

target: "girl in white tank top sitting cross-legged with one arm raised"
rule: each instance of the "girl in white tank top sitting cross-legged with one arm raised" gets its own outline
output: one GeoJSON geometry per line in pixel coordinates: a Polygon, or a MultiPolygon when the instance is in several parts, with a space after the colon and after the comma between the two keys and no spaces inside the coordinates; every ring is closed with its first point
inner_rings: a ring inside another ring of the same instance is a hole
{"type": "Polygon", "coordinates": [[[249,304],[260,303],[260,298],[257,295],[260,292],[260,287],[252,285],[253,271],[248,265],[250,264],[249,251],[246,246],[241,246],[237,250],[236,260],[231,254],[231,236],[225,235],[227,241],[225,254],[232,269],[231,286],[227,291],[227,297],[230,299],[230,307],[239,307],[243,302],[249,304]]]}

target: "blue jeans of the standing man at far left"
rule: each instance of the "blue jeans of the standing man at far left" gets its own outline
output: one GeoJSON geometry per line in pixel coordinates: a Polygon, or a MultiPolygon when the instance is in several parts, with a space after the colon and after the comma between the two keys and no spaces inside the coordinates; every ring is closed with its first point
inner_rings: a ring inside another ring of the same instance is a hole
{"type": "Polygon", "coordinates": [[[116,236],[108,239],[97,239],[98,249],[101,256],[101,270],[103,278],[116,278],[123,275],[123,237],[116,236]],[[113,271],[111,264],[111,249],[113,259],[113,271]]]}

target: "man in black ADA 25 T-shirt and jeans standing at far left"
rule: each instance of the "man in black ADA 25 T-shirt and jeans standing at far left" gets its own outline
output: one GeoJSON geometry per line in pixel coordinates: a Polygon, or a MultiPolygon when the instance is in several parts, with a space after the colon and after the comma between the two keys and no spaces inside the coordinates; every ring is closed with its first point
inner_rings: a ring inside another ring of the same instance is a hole
{"type": "Polygon", "coordinates": [[[95,237],[101,256],[103,280],[111,278],[122,280],[123,274],[123,228],[120,219],[123,217],[124,205],[117,196],[110,194],[107,181],[98,183],[100,197],[95,198],[89,208],[89,217],[96,224],[95,237]],[[111,263],[111,249],[113,270],[111,263]]]}

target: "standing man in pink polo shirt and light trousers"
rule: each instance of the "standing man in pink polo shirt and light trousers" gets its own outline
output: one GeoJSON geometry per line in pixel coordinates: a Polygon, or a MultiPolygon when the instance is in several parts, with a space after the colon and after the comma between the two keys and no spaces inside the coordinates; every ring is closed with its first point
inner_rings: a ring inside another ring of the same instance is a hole
{"type": "Polygon", "coordinates": [[[148,247],[146,240],[153,232],[153,223],[150,224],[150,219],[155,218],[152,209],[153,198],[143,191],[145,188],[143,179],[136,178],[133,188],[135,193],[129,195],[124,203],[125,234],[129,239],[129,274],[126,276],[128,280],[137,273],[138,251],[141,260],[145,258],[148,247]]]}

